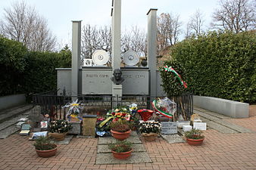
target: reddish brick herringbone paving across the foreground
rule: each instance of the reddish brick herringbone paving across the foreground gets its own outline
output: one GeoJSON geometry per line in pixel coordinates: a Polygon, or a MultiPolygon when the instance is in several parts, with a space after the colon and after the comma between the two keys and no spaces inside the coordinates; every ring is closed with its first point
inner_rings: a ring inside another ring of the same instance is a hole
{"type": "MultiPolygon", "coordinates": [[[[256,114],[231,122],[256,130],[256,114]]],[[[55,157],[39,158],[33,141],[13,134],[0,140],[0,169],[256,169],[256,133],[222,134],[210,129],[204,133],[204,144],[167,144],[159,138],[146,142],[153,163],[95,165],[98,139],[73,138],[59,145],[55,157]]]]}

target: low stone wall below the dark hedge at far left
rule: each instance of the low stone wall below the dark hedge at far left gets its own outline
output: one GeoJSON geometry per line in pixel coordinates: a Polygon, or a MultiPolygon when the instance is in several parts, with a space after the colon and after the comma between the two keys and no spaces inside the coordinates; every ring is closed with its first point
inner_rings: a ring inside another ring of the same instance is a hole
{"type": "Polygon", "coordinates": [[[16,107],[21,104],[26,104],[25,94],[15,94],[0,97],[0,110],[4,110],[9,107],[16,107]]]}

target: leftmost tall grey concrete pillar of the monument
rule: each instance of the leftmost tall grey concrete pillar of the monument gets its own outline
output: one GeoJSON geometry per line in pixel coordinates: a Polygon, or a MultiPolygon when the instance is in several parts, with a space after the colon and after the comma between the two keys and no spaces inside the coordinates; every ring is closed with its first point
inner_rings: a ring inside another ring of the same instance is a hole
{"type": "MultiPolygon", "coordinates": [[[[72,71],[71,94],[78,95],[78,81],[81,55],[81,20],[72,21],[72,71]]],[[[74,99],[74,98],[73,98],[74,99]]]]}

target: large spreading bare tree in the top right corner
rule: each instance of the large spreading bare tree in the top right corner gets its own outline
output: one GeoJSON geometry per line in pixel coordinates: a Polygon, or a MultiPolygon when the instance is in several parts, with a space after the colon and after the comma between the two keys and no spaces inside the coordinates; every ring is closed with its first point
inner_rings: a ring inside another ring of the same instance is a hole
{"type": "Polygon", "coordinates": [[[256,29],[256,1],[220,0],[212,25],[233,32],[256,29]]]}

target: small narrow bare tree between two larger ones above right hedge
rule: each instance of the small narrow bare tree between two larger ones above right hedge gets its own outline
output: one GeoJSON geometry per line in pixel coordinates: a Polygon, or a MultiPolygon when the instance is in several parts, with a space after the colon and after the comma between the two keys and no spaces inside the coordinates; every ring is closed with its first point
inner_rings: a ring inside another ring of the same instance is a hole
{"type": "MultiPolygon", "coordinates": [[[[195,36],[199,36],[203,31],[202,30],[203,23],[204,23],[204,15],[198,9],[197,11],[195,11],[195,14],[193,14],[192,17],[190,17],[190,20],[188,23],[190,32],[195,36]]],[[[187,36],[189,36],[189,32],[187,34],[188,34],[187,36]]]]}

